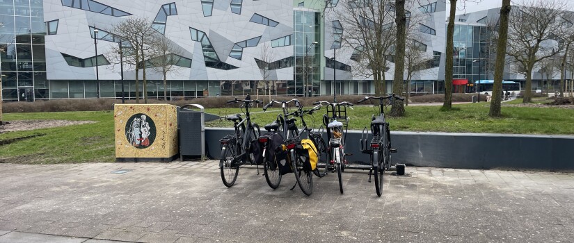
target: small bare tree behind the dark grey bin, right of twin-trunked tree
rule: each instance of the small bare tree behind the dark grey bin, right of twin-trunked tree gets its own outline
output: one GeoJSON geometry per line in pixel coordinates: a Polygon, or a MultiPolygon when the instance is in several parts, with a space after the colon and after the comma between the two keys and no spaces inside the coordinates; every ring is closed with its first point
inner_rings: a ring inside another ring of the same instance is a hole
{"type": "Polygon", "coordinates": [[[153,53],[149,63],[153,69],[157,70],[157,72],[161,72],[164,78],[164,100],[167,100],[167,74],[168,72],[182,69],[182,66],[178,65],[178,63],[184,60],[182,57],[183,51],[167,37],[159,34],[154,37],[152,51],[153,53]]]}

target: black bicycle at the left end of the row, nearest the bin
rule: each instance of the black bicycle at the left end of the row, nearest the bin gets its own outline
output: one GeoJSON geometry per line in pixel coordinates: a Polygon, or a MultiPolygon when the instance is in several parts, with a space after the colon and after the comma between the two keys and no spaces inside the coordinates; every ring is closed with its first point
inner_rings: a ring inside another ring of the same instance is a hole
{"type": "Polygon", "coordinates": [[[256,163],[252,143],[260,136],[260,128],[257,124],[251,123],[249,109],[253,103],[263,102],[251,100],[249,94],[242,100],[235,98],[227,101],[227,103],[239,102],[242,103],[241,107],[245,108],[245,118],[242,118],[241,114],[227,117],[228,121],[233,121],[235,132],[219,140],[221,142],[219,167],[221,169],[221,180],[226,187],[231,187],[237,180],[240,165],[254,165],[256,163]]]}

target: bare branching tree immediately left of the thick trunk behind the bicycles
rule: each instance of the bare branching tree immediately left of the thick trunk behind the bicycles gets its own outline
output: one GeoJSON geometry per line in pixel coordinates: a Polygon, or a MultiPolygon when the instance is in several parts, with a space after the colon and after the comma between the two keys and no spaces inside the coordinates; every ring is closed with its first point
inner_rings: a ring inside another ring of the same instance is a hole
{"type": "Polygon", "coordinates": [[[392,3],[392,0],[345,1],[336,10],[346,32],[342,42],[353,49],[353,74],[372,76],[377,96],[385,93],[386,58],[394,51],[396,39],[392,3]]]}

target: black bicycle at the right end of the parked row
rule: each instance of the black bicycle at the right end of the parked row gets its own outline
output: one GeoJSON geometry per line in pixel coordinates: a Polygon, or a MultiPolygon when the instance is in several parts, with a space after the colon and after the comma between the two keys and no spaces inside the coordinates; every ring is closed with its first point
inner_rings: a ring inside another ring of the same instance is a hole
{"type": "Polygon", "coordinates": [[[363,136],[360,140],[362,153],[368,153],[371,157],[371,170],[369,171],[369,182],[371,182],[371,175],[375,178],[375,190],[377,196],[383,194],[383,175],[385,171],[391,167],[390,153],[397,153],[397,149],[392,149],[390,144],[390,129],[389,124],[385,119],[385,108],[388,103],[392,103],[392,99],[404,100],[404,98],[391,94],[386,97],[365,97],[357,103],[365,102],[369,99],[378,99],[379,114],[378,117],[373,115],[371,121],[372,140],[367,144],[366,129],[363,130],[363,136]],[[388,103],[384,102],[388,99],[388,103]]]}

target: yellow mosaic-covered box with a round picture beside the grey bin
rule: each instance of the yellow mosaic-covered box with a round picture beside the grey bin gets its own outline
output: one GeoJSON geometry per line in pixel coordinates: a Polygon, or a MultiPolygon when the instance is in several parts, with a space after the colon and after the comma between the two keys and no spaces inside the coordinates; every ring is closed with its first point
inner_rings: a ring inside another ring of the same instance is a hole
{"type": "Polygon", "coordinates": [[[177,157],[177,106],[113,106],[116,162],[169,162],[177,157]]]}

